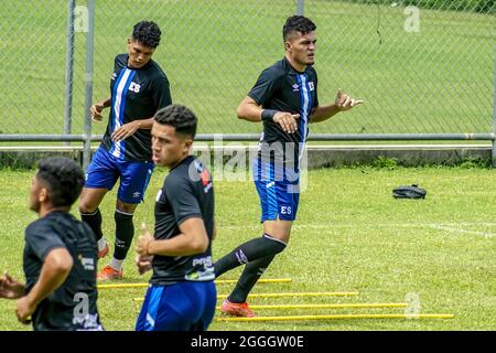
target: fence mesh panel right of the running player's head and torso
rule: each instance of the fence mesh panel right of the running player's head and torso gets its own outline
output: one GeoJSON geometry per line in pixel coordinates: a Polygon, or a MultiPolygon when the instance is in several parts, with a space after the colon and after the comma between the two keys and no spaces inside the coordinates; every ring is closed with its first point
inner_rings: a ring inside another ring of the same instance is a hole
{"type": "Polygon", "coordinates": [[[337,86],[366,101],[313,131],[490,131],[495,6],[476,2],[490,1],[305,1],[322,101],[337,86]]]}

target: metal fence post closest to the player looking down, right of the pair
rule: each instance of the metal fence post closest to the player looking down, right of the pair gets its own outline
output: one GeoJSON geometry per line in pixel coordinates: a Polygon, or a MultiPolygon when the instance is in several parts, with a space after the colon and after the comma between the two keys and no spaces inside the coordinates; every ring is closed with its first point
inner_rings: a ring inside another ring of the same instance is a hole
{"type": "Polygon", "coordinates": [[[91,157],[91,116],[89,108],[93,100],[93,56],[95,36],[95,0],[88,0],[88,33],[86,34],[86,75],[85,75],[85,146],[83,150],[83,169],[86,171],[91,157]]]}

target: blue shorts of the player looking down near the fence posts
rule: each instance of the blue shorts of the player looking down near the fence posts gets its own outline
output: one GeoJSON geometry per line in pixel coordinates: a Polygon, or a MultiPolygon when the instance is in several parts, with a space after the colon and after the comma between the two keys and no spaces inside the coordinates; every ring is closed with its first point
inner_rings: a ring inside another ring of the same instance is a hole
{"type": "Polygon", "coordinates": [[[137,204],[143,201],[154,167],[153,162],[118,159],[99,147],[89,163],[85,188],[111,190],[120,178],[117,197],[126,203],[137,204]]]}

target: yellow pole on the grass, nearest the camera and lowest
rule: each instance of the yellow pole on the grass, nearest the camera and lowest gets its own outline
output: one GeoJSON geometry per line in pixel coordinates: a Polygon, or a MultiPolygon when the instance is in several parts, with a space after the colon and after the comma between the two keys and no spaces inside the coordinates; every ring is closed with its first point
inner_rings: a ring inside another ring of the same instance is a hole
{"type": "Polygon", "coordinates": [[[419,313],[419,314],[397,314],[397,313],[349,313],[332,315],[288,315],[288,317],[255,317],[255,318],[217,318],[215,321],[222,322],[260,322],[260,321],[310,321],[310,320],[346,320],[346,319],[453,319],[454,314],[449,313],[419,313]]]}

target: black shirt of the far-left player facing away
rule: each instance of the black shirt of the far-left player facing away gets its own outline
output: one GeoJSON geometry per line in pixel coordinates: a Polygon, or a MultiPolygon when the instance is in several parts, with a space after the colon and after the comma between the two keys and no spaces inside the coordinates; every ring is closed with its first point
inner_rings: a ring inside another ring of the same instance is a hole
{"type": "Polygon", "coordinates": [[[55,248],[65,248],[73,257],[73,268],[64,284],[40,302],[32,315],[35,331],[96,330],[97,244],[89,226],[66,212],[52,212],[25,229],[25,290],[36,284],[43,263],[55,248]]]}

